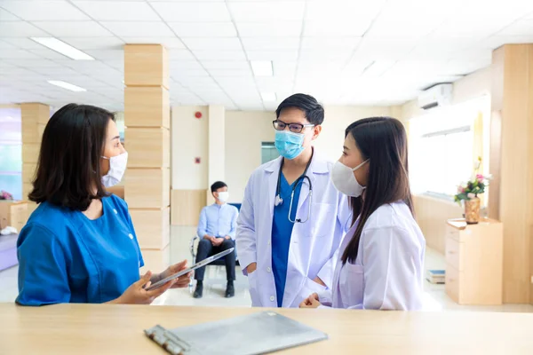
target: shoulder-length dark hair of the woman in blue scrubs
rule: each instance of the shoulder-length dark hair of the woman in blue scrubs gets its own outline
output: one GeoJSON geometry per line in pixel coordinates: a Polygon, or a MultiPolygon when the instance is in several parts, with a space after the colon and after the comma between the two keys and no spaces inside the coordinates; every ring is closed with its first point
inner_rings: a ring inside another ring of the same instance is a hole
{"type": "Polygon", "coordinates": [[[103,108],[69,104],[46,124],[29,200],[86,210],[107,196],[101,184],[107,125],[114,115],[103,108]],[[96,191],[95,191],[96,189],[96,191]]]}

